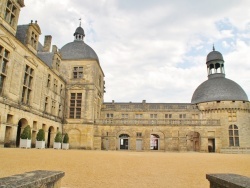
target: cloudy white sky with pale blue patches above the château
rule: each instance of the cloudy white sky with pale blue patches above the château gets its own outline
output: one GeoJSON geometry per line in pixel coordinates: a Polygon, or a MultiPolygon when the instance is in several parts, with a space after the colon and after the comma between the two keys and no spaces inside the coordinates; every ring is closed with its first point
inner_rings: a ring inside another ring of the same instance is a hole
{"type": "Polygon", "coordinates": [[[207,80],[206,56],[223,54],[226,77],[250,98],[250,1],[25,0],[19,24],[37,20],[61,48],[82,19],[106,80],[105,102],[191,102],[207,80]]]}

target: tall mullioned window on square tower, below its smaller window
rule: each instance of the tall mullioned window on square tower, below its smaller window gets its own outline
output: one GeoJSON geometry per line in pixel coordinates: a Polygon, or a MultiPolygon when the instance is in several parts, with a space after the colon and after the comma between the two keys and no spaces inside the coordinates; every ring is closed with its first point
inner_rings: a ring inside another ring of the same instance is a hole
{"type": "Polygon", "coordinates": [[[82,109],[82,93],[71,93],[69,118],[80,119],[82,109]]]}

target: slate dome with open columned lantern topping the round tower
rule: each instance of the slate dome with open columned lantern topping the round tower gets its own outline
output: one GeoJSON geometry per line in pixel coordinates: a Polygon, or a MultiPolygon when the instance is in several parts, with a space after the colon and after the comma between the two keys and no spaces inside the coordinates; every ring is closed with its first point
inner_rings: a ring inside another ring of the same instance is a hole
{"type": "Polygon", "coordinates": [[[208,80],[194,91],[191,103],[211,101],[248,101],[245,91],[236,82],[225,78],[224,60],[220,52],[207,55],[208,80]]]}

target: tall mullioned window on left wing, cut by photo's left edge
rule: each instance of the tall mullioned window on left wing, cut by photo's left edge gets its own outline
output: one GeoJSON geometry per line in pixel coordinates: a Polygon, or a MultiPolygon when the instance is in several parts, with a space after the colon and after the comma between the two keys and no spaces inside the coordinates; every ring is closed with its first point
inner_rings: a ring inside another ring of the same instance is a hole
{"type": "Polygon", "coordinates": [[[9,63],[10,52],[0,46],[0,94],[3,92],[4,82],[7,76],[7,64],[9,63]]]}

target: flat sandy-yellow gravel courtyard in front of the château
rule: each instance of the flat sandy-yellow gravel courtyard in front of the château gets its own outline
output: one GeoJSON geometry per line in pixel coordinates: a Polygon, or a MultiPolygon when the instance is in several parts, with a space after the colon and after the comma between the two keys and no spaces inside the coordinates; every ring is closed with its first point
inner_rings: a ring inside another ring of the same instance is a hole
{"type": "Polygon", "coordinates": [[[0,177],[64,171],[64,188],[209,187],[207,173],[250,177],[250,155],[0,148],[0,177]]]}

